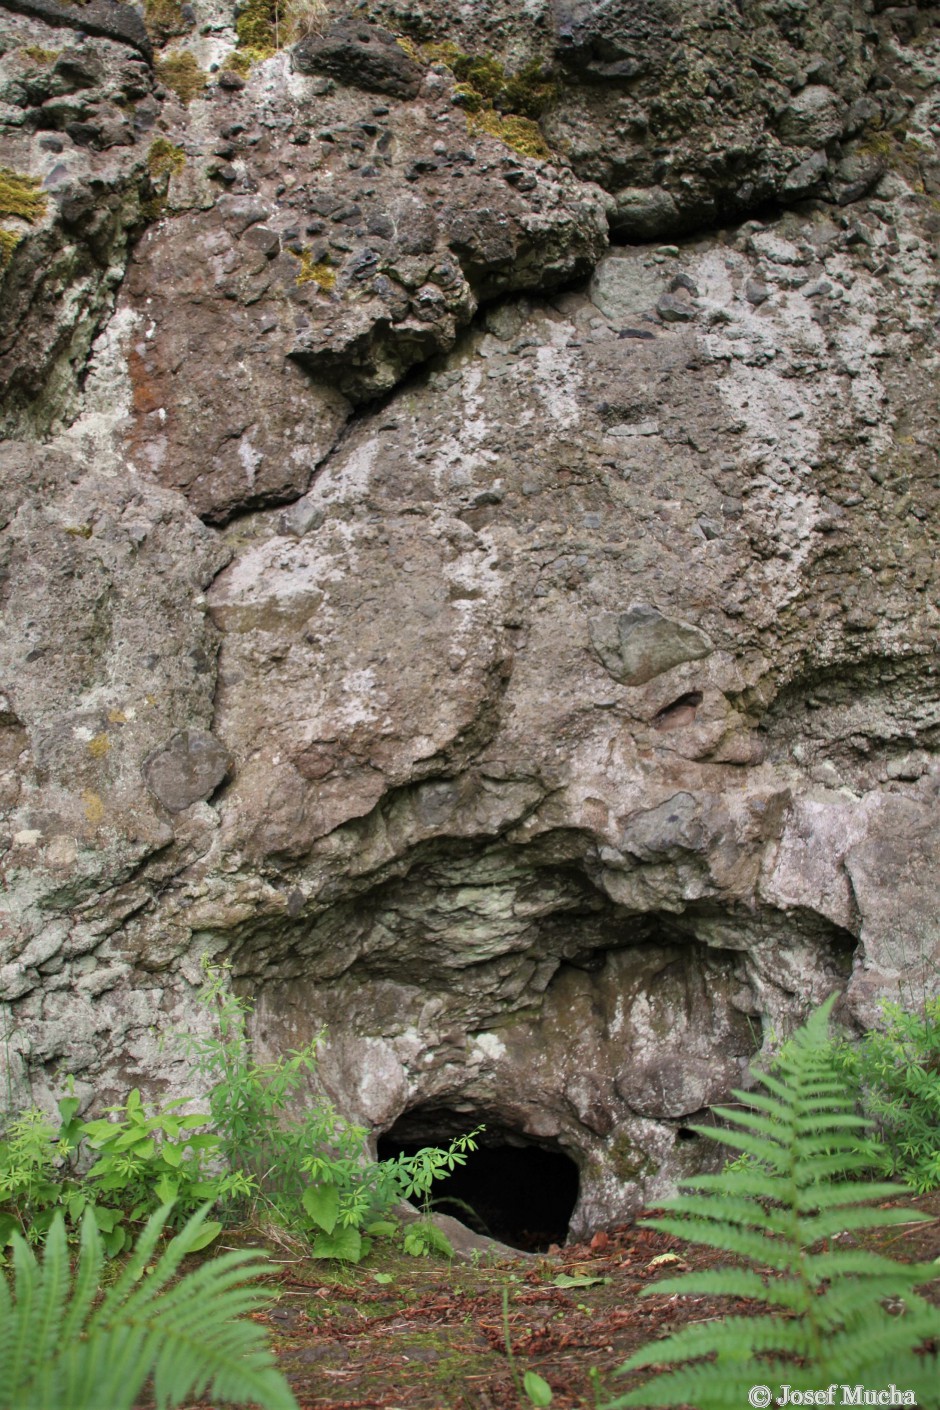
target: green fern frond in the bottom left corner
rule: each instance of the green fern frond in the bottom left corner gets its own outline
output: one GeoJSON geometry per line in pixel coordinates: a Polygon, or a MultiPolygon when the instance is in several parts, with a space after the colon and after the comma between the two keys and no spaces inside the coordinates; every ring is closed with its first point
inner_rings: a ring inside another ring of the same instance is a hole
{"type": "Polygon", "coordinates": [[[265,1301],[264,1259],[224,1253],[172,1282],[206,1211],[151,1266],[168,1215],[165,1206],[149,1220],[97,1306],[104,1249],[90,1211],[75,1275],[61,1214],[41,1261],[14,1235],[13,1286],[0,1279],[0,1410],[130,1410],[151,1375],[159,1410],[210,1387],[237,1404],[297,1410],[262,1328],[242,1320],[265,1301]]]}

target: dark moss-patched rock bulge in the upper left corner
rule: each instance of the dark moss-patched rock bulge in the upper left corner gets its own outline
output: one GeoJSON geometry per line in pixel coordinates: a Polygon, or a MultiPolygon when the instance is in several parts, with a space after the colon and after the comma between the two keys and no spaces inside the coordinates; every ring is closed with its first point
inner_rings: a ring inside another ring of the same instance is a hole
{"type": "MultiPolygon", "coordinates": [[[[124,7],[100,0],[93,8],[124,7]]],[[[89,347],[141,223],[149,144],[134,106],[151,89],[137,49],[0,7],[3,166],[31,175],[45,207],[23,220],[0,193],[0,226],[18,237],[0,251],[4,434],[44,434],[75,412],[89,347]]]]}

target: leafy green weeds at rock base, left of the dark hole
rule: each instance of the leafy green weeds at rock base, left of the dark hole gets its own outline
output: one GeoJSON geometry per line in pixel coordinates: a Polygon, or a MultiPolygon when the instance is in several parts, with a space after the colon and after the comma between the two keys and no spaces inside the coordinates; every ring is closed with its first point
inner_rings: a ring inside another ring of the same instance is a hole
{"type": "MultiPolygon", "coordinates": [[[[397,1234],[383,1215],[399,1200],[424,1203],[427,1214],[434,1183],[475,1149],[472,1131],[447,1148],[371,1159],[369,1132],[314,1090],[321,1035],[258,1062],[248,1034],[251,1001],[230,991],[225,969],[207,967],[202,1001],[213,1031],[185,1041],[199,1079],[194,1098],[151,1107],[134,1089],[103,1117],[83,1121],[69,1090],[58,1104],[58,1127],[38,1110],[7,1124],[0,1249],[17,1235],[39,1242],[58,1213],[76,1228],[87,1211],[114,1255],[130,1245],[132,1227],[163,1206],[172,1203],[179,1224],[207,1201],[218,1218],[202,1228],[204,1242],[224,1222],[273,1221],[306,1234],[314,1258],[357,1263],[375,1237],[397,1234]],[[203,1110],[186,1110],[193,1105],[203,1110]]],[[[452,1253],[427,1217],[406,1231],[403,1246],[416,1256],[452,1253]]]]}

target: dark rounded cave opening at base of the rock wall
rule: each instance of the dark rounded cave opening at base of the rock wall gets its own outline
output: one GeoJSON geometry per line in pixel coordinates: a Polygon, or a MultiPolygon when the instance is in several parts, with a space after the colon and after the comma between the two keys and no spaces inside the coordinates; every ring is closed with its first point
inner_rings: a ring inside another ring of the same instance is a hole
{"type": "Polygon", "coordinates": [[[466,1165],[435,1180],[434,1211],[530,1253],[564,1244],[579,1186],[578,1166],[564,1151],[538,1145],[485,1114],[416,1108],[379,1136],[378,1155],[385,1160],[428,1145],[445,1146],[481,1124],[486,1131],[466,1165]]]}

